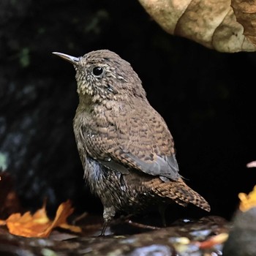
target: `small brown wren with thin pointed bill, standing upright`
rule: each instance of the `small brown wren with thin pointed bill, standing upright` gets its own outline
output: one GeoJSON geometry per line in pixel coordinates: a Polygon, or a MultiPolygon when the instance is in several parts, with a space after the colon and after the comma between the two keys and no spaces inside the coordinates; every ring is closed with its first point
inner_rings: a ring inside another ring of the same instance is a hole
{"type": "Polygon", "coordinates": [[[110,50],[54,54],[75,67],[73,128],[84,178],[104,206],[102,235],[120,211],[136,214],[173,201],[210,211],[178,173],[173,137],[131,65],[110,50]]]}

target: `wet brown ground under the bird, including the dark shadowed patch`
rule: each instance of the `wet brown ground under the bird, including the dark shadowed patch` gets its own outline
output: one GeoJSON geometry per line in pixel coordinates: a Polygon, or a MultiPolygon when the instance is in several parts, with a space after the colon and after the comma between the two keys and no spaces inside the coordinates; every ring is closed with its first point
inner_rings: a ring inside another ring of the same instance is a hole
{"type": "Polygon", "coordinates": [[[0,230],[0,255],[222,255],[229,224],[222,217],[180,219],[170,227],[154,227],[116,221],[106,236],[94,219],[79,236],[55,230],[49,238],[23,238],[0,230]],[[212,240],[213,238],[217,238],[212,240]]]}

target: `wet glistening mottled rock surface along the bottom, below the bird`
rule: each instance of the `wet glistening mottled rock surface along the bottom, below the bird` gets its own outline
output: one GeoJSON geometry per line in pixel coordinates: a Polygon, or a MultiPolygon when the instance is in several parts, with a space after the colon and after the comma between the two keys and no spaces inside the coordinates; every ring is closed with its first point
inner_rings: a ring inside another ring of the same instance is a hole
{"type": "MultiPolygon", "coordinates": [[[[181,223],[181,222],[180,222],[181,223]]],[[[161,255],[203,256],[222,255],[222,244],[200,249],[200,241],[227,231],[227,222],[219,217],[206,217],[198,222],[160,228],[124,236],[74,236],[54,240],[21,238],[0,233],[0,253],[8,255],[161,255]],[[206,232],[207,230],[207,232],[206,232]],[[197,231],[197,233],[195,233],[197,231]],[[198,236],[199,235],[199,236],[198,236]]]]}

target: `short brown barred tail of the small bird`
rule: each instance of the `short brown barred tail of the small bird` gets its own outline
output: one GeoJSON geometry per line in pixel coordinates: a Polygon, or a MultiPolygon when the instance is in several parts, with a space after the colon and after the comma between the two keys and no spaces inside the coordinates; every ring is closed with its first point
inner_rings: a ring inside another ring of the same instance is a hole
{"type": "Polygon", "coordinates": [[[154,178],[146,183],[147,187],[160,197],[168,197],[181,206],[187,206],[192,203],[205,211],[211,211],[208,202],[197,192],[191,189],[179,178],[178,181],[164,182],[160,178],[154,178]]]}

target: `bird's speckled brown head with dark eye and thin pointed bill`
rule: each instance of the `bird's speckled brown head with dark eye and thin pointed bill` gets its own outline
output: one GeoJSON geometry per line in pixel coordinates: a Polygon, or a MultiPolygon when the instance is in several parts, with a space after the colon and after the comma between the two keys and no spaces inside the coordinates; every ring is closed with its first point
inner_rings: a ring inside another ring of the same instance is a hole
{"type": "Polygon", "coordinates": [[[110,50],[94,50],[81,57],[53,54],[74,65],[80,97],[89,95],[99,102],[103,99],[146,98],[141,80],[129,62],[110,50]]]}

